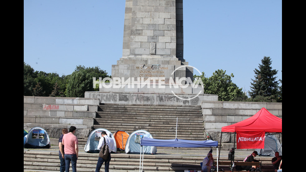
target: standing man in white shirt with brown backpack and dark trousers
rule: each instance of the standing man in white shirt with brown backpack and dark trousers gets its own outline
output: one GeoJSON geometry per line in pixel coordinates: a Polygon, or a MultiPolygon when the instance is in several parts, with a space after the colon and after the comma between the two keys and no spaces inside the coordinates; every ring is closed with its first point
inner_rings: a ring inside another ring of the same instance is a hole
{"type": "MultiPolygon", "coordinates": [[[[101,132],[101,138],[99,140],[99,144],[98,144],[98,150],[101,150],[101,147],[105,144],[104,143],[104,138],[106,143],[108,144],[108,148],[109,148],[109,152],[111,153],[111,151],[116,152],[116,148],[115,148],[115,144],[114,144],[114,140],[111,139],[110,137],[108,137],[108,135],[106,134],[105,131],[101,132]]],[[[102,164],[105,162],[105,172],[108,172],[108,168],[109,168],[109,162],[111,161],[111,154],[108,154],[107,160],[103,160],[103,158],[98,158],[98,162],[97,162],[97,166],[96,166],[96,172],[100,172],[101,166],[102,164]]]]}

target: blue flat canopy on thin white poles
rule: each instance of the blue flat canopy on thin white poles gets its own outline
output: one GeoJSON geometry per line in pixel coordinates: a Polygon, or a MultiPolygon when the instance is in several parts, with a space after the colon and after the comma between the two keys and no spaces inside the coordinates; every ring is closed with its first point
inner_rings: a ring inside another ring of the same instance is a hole
{"type": "MultiPolygon", "coordinates": [[[[203,141],[182,140],[182,139],[160,140],[160,139],[152,139],[148,137],[143,137],[141,139],[140,145],[141,146],[159,146],[159,147],[184,147],[184,148],[217,147],[217,152],[218,152],[218,141],[213,141],[213,140],[203,140],[203,141]]],[[[142,161],[143,161],[143,154],[142,154],[142,161]]],[[[217,166],[218,166],[218,154],[217,154],[217,166]]],[[[141,150],[140,150],[139,171],[142,171],[141,169],[141,150]]]]}

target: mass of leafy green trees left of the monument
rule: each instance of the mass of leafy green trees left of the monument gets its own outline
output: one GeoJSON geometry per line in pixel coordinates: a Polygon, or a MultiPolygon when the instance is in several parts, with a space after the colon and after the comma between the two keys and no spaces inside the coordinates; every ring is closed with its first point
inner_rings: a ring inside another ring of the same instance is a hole
{"type": "Polygon", "coordinates": [[[72,74],[60,77],[54,72],[34,71],[23,62],[23,95],[84,97],[85,91],[99,91],[92,86],[93,77],[103,79],[110,76],[98,66],[79,65],[72,74]]]}

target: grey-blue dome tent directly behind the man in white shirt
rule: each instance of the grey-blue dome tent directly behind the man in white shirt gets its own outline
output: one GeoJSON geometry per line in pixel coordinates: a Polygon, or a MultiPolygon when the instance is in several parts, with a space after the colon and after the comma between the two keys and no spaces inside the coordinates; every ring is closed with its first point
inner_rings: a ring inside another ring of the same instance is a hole
{"type": "Polygon", "coordinates": [[[99,140],[101,138],[101,132],[105,131],[106,134],[114,140],[114,147],[111,148],[111,150],[113,150],[114,152],[116,152],[117,150],[117,145],[116,145],[116,140],[114,139],[114,136],[111,134],[111,132],[109,130],[103,129],[103,128],[99,128],[96,130],[93,130],[90,135],[88,136],[86,145],[84,147],[85,152],[88,153],[99,153],[100,150],[98,150],[98,144],[99,144],[99,140]]]}

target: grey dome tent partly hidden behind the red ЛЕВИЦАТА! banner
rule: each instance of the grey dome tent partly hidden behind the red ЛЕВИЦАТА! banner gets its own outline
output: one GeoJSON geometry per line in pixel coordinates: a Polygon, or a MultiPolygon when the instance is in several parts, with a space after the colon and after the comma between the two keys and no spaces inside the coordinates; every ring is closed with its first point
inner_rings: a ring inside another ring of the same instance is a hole
{"type": "Polygon", "coordinates": [[[259,155],[274,156],[275,152],[282,155],[282,145],[275,135],[264,136],[264,149],[255,149],[259,155]]]}

